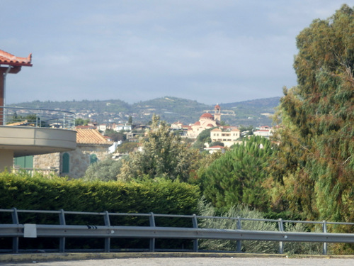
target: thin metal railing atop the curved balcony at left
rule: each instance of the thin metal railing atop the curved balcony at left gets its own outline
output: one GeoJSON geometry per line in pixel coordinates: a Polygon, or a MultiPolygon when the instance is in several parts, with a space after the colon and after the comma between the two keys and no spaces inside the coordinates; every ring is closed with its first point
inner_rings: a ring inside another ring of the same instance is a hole
{"type": "Polygon", "coordinates": [[[0,126],[33,126],[74,130],[75,113],[55,109],[0,106],[0,126]]]}

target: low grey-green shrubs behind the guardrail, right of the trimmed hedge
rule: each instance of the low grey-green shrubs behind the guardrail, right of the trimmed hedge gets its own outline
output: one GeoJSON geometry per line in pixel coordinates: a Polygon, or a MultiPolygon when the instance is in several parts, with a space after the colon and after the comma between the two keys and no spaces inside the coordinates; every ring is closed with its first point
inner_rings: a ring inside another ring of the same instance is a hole
{"type": "MultiPolygon", "coordinates": [[[[198,211],[201,216],[217,216],[218,210],[211,204],[205,203],[204,200],[198,201],[198,211]]],[[[229,217],[230,219],[200,219],[201,228],[219,228],[219,229],[240,229],[237,226],[237,221],[232,218],[251,218],[251,219],[264,219],[264,214],[260,211],[249,209],[244,205],[231,206],[224,211],[220,216],[229,217]]],[[[241,229],[250,231],[278,231],[279,228],[276,223],[269,223],[265,221],[241,221],[241,229]]],[[[307,232],[309,228],[304,223],[285,223],[285,231],[287,232],[307,232]]],[[[319,231],[316,231],[319,232],[319,231]]],[[[279,244],[272,241],[256,241],[256,240],[243,240],[241,243],[241,251],[246,253],[278,253],[279,244]]],[[[316,254],[319,255],[323,252],[323,244],[321,243],[298,243],[288,242],[283,243],[284,252],[287,254],[316,254]]],[[[200,248],[205,250],[237,250],[236,240],[217,240],[207,239],[200,240],[200,248]]]]}

